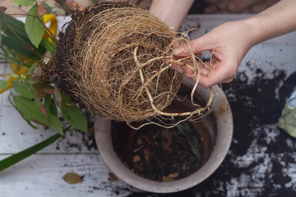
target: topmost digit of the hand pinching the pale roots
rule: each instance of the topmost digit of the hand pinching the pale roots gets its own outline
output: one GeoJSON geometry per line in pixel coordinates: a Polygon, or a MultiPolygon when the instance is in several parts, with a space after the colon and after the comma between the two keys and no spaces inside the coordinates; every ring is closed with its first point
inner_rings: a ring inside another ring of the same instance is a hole
{"type": "MultiPolygon", "coordinates": [[[[213,49],[213,41],[209,39],[207,35],[203,35],[197,39],[190,41],[190,47],[194,54],[200,53],[202,51],[207,51],[213,49]]],[[[187,43],[177,46],[174,50],[174,56],[176,57],[186,57],[190,55],[190,50],[187,43]]]]}

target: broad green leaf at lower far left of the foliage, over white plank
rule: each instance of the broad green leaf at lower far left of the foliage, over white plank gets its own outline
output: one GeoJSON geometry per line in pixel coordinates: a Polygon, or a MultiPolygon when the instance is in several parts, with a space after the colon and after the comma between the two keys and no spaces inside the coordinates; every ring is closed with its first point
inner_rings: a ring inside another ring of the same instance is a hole
{"type": "Polygon", "coordinates": [[[30,99],[22,96],[12,96],[15,107],[20,114],[28,121],[35,121],[40,124],[47,125],[47,117],[40,110],[39,105],[30,99]]]}

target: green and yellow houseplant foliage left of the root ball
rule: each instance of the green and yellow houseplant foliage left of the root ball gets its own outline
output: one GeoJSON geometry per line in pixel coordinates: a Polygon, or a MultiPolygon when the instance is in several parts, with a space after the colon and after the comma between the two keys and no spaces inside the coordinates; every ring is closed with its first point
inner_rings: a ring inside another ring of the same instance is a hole
{"type": "Polygon", "coordinates": [[[0,171],[45,148],[72,127],[88,131],[83,111],[46,78],[58,44],[53,13],[65,15],[78,9],[78,5],[66,0],[55,0],[55,5],[36,0],[13,1],[32,7],[27,14],[18,14],[26,17],[23,23],[5,14],[6,7],[0,6],[0,64],[11,68],[10,73],[0,74],[0,93],[10,91],[8,101],[31,127],[51,128],[57,134],[0,161],[0,171]],[[60,120],[65,120],[67,126],[60,120]]]}

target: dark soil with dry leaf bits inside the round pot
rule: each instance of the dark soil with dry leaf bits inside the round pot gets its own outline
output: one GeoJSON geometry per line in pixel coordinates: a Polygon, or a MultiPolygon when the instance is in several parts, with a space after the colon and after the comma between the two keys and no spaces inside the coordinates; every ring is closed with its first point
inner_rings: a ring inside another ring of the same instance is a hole
{"type": "Polygon", "coordinates": [[[159,182],[174,181],[202,166],[203,141],[188,122],[171,129],[148,125],[136,133],[132,156],[138,175],[159,182]],[[189,133],[181,133],[180,129],[188,128],[189,133]],[[195,138],[195,143],[190,146],[188,138],[195,138]]]}

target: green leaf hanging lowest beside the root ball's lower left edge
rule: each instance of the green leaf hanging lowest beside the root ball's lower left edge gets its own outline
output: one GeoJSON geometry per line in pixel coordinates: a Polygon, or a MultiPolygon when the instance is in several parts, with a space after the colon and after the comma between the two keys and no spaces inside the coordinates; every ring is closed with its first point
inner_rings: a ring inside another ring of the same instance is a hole
{"type": "Polygon", "coordinates": [[[62,113],[64,119],[75,129],[87,132],[87,121],[81,109],[75,104],[67,105],[65,100],[71,100],[66,94],[62,93],[62,113]]]}

